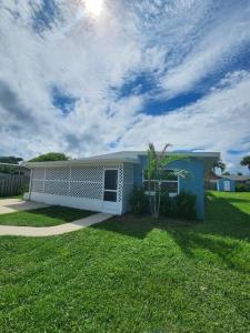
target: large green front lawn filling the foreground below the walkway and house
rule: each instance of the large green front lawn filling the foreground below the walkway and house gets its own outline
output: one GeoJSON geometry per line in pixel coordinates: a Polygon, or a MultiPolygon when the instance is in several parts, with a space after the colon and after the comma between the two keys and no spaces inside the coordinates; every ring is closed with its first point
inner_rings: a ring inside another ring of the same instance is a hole
{"type": "Polygon", "coordinates": [[[1,238],[1,332],[249,332],[250,194],[211,192],[207,211],[1,238]]]}

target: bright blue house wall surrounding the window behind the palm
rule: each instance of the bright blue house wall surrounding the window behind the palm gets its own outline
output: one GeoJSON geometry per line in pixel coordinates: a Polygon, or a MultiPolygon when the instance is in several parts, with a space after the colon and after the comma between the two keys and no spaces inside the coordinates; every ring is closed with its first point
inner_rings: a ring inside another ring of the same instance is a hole
{"type": "MultiPolygon", "coordinates": [[[[134,185],[142,185],[143,170],[147,168],[148,158],[141,155],[140,163],[133,167],[134,185]]],[[[189,161],[174,161],[168,165],[168,169],[183,169],[190,174],[188,178],[180,178],[180,191],[191,192],[197,195],[197,218],[204,219],[204,165],[202,160],[190,159],[189,161]]]]}

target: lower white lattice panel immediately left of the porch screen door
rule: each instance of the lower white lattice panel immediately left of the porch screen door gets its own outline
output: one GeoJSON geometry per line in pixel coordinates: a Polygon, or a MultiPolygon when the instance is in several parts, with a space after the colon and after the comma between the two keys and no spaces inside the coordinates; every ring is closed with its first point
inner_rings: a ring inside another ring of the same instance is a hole
{"type": "Polygon", "coordinates": [[[102,183],[71,182],[70,196],[102,199],[102,183]]]}

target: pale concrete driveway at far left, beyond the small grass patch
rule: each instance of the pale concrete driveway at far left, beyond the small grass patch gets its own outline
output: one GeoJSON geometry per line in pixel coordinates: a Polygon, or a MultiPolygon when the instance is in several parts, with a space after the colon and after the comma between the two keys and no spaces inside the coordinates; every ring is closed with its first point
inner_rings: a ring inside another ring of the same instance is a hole
{"type": "Polygon", "coordinates": [[[39,208],[46,208],[48,204],[24,201],[20,199],[1,199],[0,200],[0,214],[14,213],[19,211],[37,210],[39,208]]]}

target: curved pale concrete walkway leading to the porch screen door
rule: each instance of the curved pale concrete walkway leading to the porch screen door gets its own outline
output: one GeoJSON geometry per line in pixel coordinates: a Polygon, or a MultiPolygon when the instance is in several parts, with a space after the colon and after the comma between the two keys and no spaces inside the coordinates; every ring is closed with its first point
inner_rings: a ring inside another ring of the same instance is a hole
{"type": "Polygon", "coordinates": [[[21,235],[21,236],[31,236],[31,238],[59,235],[59,234],[77,231],[96,223],[100,223],[102,221],[110,219],[111,216],[112,216],[111,214],[98,213],[70,223],[64,223],[56,226],[46,226],[46,228],[0,225],[0,235],[21,235]]]}

